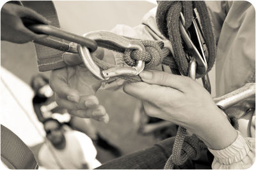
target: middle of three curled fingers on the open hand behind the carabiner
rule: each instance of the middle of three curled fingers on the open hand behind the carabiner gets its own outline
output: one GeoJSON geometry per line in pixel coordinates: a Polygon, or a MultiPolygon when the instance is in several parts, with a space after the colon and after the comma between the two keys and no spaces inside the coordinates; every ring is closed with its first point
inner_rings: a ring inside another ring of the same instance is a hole
{"type": "Polygon", "coordinates": [[[58,106],[67,108],[69,110],[84,110],[89,108],[97,108],[99,100],[96,96],[86,96],[79,101],[79,103],[69,101],[68,99],[61,98],[58,94],[55,95],[55,101],[58,106]]]}

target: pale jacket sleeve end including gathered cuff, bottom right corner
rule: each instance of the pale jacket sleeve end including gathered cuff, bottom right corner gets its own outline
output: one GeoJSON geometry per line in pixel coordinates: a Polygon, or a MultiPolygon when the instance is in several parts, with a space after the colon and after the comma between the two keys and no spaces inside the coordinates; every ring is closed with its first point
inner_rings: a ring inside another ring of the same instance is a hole
{"type": "Polygon", "coordinates": [[[214,155],[212,169],[248,169],[255,160],[255,138],[244,138],[238,132],[236,141],[223,150],[209,151],[214,155]]]}

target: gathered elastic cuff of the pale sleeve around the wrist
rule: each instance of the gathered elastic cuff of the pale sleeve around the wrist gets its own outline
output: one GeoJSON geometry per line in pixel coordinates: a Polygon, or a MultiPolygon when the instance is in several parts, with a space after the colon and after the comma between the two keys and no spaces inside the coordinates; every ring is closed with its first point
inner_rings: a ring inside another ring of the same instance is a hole
{"type": "Polygon", "coordinates": [[[237,131],[238,135],[234,143],[223,150],[208,150],[214,155],[214,158],[220,162],[220,164],[230,165],[243,160],[248,152],[250,152],[250,143],[244,138],[241,132],[237,131]]]}

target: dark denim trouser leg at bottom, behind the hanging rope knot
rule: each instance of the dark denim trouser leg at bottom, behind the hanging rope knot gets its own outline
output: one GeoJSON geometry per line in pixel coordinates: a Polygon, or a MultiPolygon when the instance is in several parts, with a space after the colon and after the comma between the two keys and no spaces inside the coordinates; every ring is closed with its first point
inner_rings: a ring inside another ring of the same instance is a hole
{"type": "MultiPolygon", "coordinates": [[[[175,137],[164,139],[156,145],[130,153],[115,160],[106,162],[97,169],[163,169],[172,153],[175,137]]],[[[178,169],[211,169],[213,157],[204,150],[198,160],[189,160],[178,169]]]]}

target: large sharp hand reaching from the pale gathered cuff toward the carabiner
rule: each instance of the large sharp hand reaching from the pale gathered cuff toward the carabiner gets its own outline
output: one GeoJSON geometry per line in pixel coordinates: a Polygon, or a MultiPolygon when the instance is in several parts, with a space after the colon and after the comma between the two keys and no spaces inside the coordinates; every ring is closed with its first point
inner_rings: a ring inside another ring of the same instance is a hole
{"type": "Polygon", "coordinates": [[[185,127],[213,149],[234,142],[236,130],[196,81],[160,71],[143,71],[140,76],[144,82],[127,83],[124,91],[141,99],[148,115],[185,127]]]}

